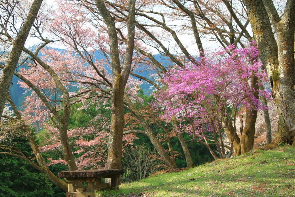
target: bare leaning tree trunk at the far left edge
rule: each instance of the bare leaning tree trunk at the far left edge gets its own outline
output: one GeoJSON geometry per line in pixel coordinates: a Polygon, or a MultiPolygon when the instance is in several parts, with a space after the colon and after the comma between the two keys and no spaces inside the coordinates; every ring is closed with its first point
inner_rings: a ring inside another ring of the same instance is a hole
{"type": "Polygon", "coordinates": [[[8,94],[12,76],[14,74],[14,70],[19,61],[19,57],[22,53],[22,48],[24,46],[24,43],[26,42],[29,32],[31,30],[31,27],[37,17],[42,1],[43,0],[35,0],[32,3],[28,16],[26,20],[24,21],[24,24],[22,25],[22,28],[19,34],[17,35],[17,37],[15,38],[13,42],[12,50],[9,54],[8,61],[6,62],[6,65],[3,69],[3,73],[2,73],[2,77],[0,81],[0,117],[2,116],[2,113],[3,113],[6,97],[8,94]]]}

